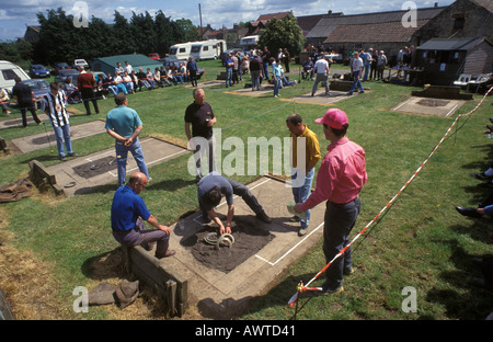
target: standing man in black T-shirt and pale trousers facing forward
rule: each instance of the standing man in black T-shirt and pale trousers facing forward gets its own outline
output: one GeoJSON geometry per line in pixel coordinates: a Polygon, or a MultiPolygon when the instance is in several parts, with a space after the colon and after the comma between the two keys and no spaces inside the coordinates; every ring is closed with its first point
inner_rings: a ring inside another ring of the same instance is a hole
{"type": "Polygon", "coordinates": [[[205,102],[204,90],[198,88],[193,91],[194,102],[185,111],[185,134],[188,139],[188,149],[195,151],[196,180],[202,179],[202,158],[207,153],[209,172],[216,169],[214,158],[213,126],[216,124],[210,104],[205,102]],[[192,125],[192,133],[190,126],[192,125]]]}

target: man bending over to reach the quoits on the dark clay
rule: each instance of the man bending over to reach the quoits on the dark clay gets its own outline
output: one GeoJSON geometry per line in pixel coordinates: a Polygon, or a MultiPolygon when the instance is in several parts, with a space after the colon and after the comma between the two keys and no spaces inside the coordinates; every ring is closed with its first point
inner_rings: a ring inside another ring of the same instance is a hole
{"type": "Polygon", "coordinates": [[[198,182],[197,196],[204,221],[208,223],[209,216],[219,226],[220,235],[225,232],[231,233],[231,221],[234,216],[233,195],[241,196],[244,203],[256,214],[256,218],[266,224],[272,223],[272,219],[265,214],[255,196],[253,196],[246,186],[213,171],[198,182]],[[228,205],[226,227],[214,210],[219,205],[222,195],[225,195],[228,205]]]}

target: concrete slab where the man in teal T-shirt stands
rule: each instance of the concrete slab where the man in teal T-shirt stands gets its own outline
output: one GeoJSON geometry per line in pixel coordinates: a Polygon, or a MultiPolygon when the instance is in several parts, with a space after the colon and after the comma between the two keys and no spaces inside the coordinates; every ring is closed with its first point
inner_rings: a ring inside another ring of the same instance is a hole
{"type": "MultiPolygon", "coordinates": [[[[177,145],[156,138],[140,140],[145,160],[148,167],[176,158],[188,151],[177,145]]],[[[67,196],[91,191],[98,186],[115,183],[116,171],[115,149],[108,148],[81,158],[69,159],[47,168],[56,178],[56,183],[64,187],[67,196]]],[[[127,159],[127,175],[137,171],[138,167],[131,153],[127,159]]],[[[152,176],[152,175],[151,175],[152,176]]]]}

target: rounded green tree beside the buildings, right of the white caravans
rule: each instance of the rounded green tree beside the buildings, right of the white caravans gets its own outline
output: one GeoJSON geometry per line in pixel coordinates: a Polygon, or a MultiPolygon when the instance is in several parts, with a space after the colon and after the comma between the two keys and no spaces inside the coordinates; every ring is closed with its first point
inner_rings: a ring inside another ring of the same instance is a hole
{"type": "Polygon", "coordinates": [[[296,18],[289,13],[282,20],[274,18],[261,31],[259,46],[267,46],[271,53],[287,48],[289,55],[298,55],[305,46],[305,37],[296,18]]]}

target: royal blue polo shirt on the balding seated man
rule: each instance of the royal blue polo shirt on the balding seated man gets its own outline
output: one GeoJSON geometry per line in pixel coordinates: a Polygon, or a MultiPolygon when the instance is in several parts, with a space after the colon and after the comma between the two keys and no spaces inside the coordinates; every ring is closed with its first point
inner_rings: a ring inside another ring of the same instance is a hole
{"type": "Polygon", "coordinates": [[[142,197],[128,185],[119,186],[113,196],[111,220],[113,230],[134,229],[137,218],[148,220],[150,213],[142,197]]]}

